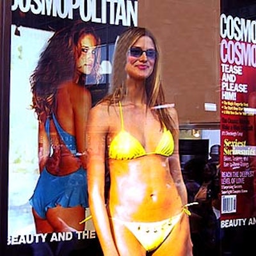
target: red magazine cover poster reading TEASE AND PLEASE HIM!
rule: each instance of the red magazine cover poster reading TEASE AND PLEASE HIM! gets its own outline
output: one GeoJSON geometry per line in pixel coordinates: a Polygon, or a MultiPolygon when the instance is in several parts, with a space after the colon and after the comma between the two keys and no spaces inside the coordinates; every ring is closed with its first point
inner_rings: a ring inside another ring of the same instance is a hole
{"type": "Polygon", "coordinates": [[[256,224],[255,35],[255,20],[221,13],[221,228],[256,224]]]}

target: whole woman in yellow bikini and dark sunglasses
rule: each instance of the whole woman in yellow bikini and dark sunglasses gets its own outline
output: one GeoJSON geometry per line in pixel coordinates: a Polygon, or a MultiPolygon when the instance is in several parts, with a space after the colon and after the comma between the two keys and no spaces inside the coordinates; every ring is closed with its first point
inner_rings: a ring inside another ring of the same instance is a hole
{"type": "Polygon", "coordinates": [[[164,103],[159,64],[150,31],[127,29],[116,44],[113,92],[88,116],[89,205],[105,256],[192,255],[178,118],[164,103]]]}

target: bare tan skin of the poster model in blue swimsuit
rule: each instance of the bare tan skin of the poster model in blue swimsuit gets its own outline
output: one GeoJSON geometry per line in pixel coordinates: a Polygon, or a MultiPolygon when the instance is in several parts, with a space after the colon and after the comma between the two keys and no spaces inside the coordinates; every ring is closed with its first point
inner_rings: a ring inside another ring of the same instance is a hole
{"type": "MultiPolygon", "coordinates": [[[[45,132],[46,116],[41,116],[41,121],[38,127],[38,156],[40,172],[46,167],[47,171],[52,175],[62,176],[76,172],[81,164],[86,170],[86,155],[85,152],[85,129],[87,123],[88,112],[92,107],[92,98],[90,92],[83,86],[79,86],[76,82],[79,75],[90,74],[92,71],[95,56],[96,40],[91,34],[82,36],[79,40],[81,45],[81,56],[76,61],[77,69],[73,81],[67,81],[60,84],[56,93],[56,109],[54,113],[61,127],[69,134],[76,136],[77,152],[81,153],[79,160],[74,157],[70,151],[61,145],[60,162],[56,163],[58,156],[58,145],[60,139],[58,134],[51,134],[51,138],[56,143],[56,148],[52,156],[49,157],[49,141],[45,132]],[[80,162],[80,163],[79,163],[80,162]],[[54,167],[57,166],[58,168],[54,167]]],[[[54,131],[54,124],[51,120],[51,131],[54,131]]],[[[54,208],[49,208],[46,212],[46,220],[40,218],[33,209],[37,233],[49,232],[65,232],[74,230],[84,230],[84,224],[79,224],[79,221],[84,219],[84,207],[78,205],[76,207],[61,207],[57,205],[54,208]],[[72,218],[70,218],[72,216],[72,218]]]]}

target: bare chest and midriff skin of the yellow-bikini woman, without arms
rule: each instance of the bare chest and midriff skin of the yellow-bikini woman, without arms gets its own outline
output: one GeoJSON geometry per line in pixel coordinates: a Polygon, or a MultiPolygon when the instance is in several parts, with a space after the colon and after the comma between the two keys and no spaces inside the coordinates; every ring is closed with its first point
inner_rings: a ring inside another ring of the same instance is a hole
{"type": "Polygon", "coordinates": [[[139,141],[146,154],[135,159],[109,159],[109,214],[126,221],[159,221],[179,214],[182,203],[170,175],[168,157],[155,154],[163,137],[156,116],[143,106],[110,107],[108,148],[124,130],[139,141]],[[120,116],[122,115],[122,116],[120,116]]]}

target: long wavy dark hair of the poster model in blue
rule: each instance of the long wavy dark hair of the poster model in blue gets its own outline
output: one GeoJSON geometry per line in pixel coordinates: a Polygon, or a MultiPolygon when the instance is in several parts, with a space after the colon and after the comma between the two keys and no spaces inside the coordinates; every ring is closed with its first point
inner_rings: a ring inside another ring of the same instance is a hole
{"type": "MultiPolygon", "coordinates": [[[[76,22],[72,26],[56,31],[40,54],[38,64],[30,77],[33,94],[31,108],[35,109],[38,119],[40,119],[42,113],[46,113],[47,116],[51,114],[58,86],[65,81],[74,79],[76,60],[81,55],[81,47],[78,45],[79,39],[87,34],[92,34],[97,45],[100,46],[100,38],[95,31],[86,27],[84,22],[76,22]]],[[[85,75],[83,74],[83,76],[85,75]]],[[[99,82],[99,47],[96,51],[92,76],[95,77],[95,81],[99,82]]],[[[80,77],[79,83],[84,80],[83,77],[80,77]]]]}

